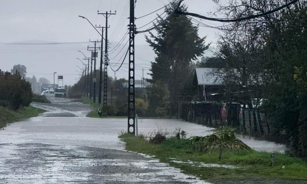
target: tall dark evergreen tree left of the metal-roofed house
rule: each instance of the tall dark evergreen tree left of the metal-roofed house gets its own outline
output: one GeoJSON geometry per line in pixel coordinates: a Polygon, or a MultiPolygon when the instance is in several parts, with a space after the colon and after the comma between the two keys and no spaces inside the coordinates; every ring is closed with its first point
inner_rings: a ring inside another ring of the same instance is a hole
{"type": "MultiPolygon", "coordinates": [[[[191,83],[189,66],[192,60],[202,56],[209,44],[204,42],[206,37],[198,36],[198,27],[194,26],[189,17],[173,13],[177,7],[176,1],[165,8],[166,20],[159,17],[158,26],[155,28],[157,35],[150,33],[146,41],[153,48],[156,57],[151,63],[150,73],[155,83],[161,80],[168,84],[171,102],[177,95],[182,95],[187,83],[191,83]]],[[[186,11],[186,6],[179,7],[186,11]]],[[[171,108],[172,109],[172,108],[171,108]]]]}

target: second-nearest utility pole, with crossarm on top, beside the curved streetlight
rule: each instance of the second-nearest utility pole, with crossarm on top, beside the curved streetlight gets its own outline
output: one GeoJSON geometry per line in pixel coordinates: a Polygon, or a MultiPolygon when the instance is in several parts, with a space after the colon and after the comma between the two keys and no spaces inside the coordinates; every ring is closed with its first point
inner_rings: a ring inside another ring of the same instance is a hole
{"type": "MultiPolygon", "coordinates": [[[[116,13],[98,13],[102,14],[106,18],[106,43],[105,43],[105,50],[104,50],[104,85],[103,85],[103,106],[107,106],[107,86],[108,86],[108,18],[111,15],[116,15],[116,13]]],[[[102,41],[102,40],[101,40],[102,41]]],[[[102,49],[102,44],[101,44],[102,49]]],[[[102,52],[101,52],[102,53],[102,52]]],[[[101,54],[102,55],[102,54],[101,54]]],[[[100,66],[101,67],[101,66],[100,66]]],[[[100,91],[101,92],[101,91],[100,91]]]]}

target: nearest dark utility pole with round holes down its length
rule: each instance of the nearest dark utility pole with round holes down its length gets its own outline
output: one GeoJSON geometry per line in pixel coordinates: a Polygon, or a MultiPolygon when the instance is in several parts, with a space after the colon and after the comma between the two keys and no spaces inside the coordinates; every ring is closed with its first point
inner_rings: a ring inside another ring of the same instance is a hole
{"type": "Polygon", "coordinates": [[[128,132],[135,135],[135,90],[134,90],[134,0],[130,0],[129,24],[129,72],[128,72],[128,132]],[[130,129],[131,128],[131,129],[130,129]]]}

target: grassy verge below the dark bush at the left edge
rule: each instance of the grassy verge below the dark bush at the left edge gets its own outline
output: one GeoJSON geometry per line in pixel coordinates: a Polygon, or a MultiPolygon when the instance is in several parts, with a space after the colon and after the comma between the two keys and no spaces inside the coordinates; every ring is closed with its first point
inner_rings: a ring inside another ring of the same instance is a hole
{"type": "Polygon", "coordinates": [[[36,117],[43,112],[45,112],[45,110],[32,106],[19,108],[17,111],[0,106],[0,128],[5,127],[7,123],[36,117]]]}

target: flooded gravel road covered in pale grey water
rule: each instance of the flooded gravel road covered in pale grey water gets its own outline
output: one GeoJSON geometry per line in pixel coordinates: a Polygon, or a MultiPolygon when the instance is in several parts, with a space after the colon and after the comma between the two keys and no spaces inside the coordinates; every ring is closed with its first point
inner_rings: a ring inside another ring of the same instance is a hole
{"type": "MultiPolygon", "coordinates": [[[[51,101],[32,104],[47,112],[0,131],[0,183],[207,183],[125,151],[117,137],[127,129],[126,118],[88,118],[87,105],[63,98],[51,101]]],[[[138,127],[143,134],[175,128],[188,136],[212,133],[212,128],[179,120],[139,119],[138,127]]],[[[240,139],[256,150],[286,149],[281,144],[240,139]]]]}

